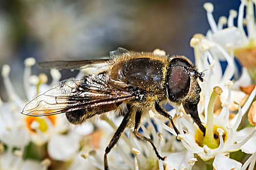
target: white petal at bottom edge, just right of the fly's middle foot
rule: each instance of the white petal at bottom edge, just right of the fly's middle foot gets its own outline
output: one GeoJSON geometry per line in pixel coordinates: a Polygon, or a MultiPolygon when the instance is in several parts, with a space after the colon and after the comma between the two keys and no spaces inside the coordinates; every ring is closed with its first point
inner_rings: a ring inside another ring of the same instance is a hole
{"type": "Polygon", "coordinates": [[[164,161],[166,164],[165,170],[183,170],[188,168],[191,166],[188,161],[192,158],[194,158],[194,154],[188,150],[171,153],[164,161]]]}

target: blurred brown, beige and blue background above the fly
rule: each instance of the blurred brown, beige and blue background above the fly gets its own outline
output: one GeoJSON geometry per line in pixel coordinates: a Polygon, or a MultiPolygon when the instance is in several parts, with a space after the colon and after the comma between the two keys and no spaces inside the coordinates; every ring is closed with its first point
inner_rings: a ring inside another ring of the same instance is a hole
{"type": "MultiPolygon", "coordinates": [[[[214,17],[238,10],[240,0],[208,0],[214,17]]],[[[24,96],[24,59],[84,60],[107,57],[118,47],[185,55],[194,62],[189,42],[210,28],[206,0],[1,0],[0,68],[11,67],[10,79],[24,96]]],[[[235,20],[236,24],[236,20],[235,20]]],[[[32,74],[48,70],[33,67],[32,74]]],[[[63,70],[62,79],[76,71],[63,70]]],[[[7,100],[0,79],[0,97],[7,100]]]]}

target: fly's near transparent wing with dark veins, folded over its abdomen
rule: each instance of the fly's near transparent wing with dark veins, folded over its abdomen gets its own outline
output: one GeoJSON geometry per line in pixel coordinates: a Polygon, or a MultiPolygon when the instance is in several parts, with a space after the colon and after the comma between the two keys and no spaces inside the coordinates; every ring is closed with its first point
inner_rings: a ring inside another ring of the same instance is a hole
{"type": "Polygon", "coordinates": [[[106,83],[104,74],[83,80],[68,79],[28,102],[21,111],[29,116],[49,116],[74,110],[134,100],[129,91],[106,83]]]}

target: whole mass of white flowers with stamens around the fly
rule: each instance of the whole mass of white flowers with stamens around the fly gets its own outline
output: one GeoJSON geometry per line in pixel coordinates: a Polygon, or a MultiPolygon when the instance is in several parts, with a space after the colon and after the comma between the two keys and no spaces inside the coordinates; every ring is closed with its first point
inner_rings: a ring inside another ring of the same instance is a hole
{"type": "MultiPolygon", "coordinates": [[[[204,4],[211,30],[206,36],[195,34],[190,44],[195,51],[198,70],[206,70],[204,82],[200,83],[202,91],[198,103],[199,117],[206,127],[205,136],[182,106],[169,111],[180,132],[178,136],[170,123],[158,119],[154,110],[150,110],[149,116],[141,122],[140,132],[153,140],[160,155],[166,159],[158,160],[152,146],[138,140],[127,128],[108,155],[111,170],[120,170],[120,167],[123,170],[191,170],[208,169],[209,166],[215,170],[254,169],[256,88],[251,86],[256,79],[254,5],[252,0],[241,1],[238,26],[235,27],[237,13],[234,10],[230,11],[228,19],[221,17],[216,24],[213,5],[204,4]],[[228,27],[223,28],[226,23],[228,27]],[[248,34],[245,34],[244,23],[248,34]],[[235,56],[244,66],[241,75],[235,56]],[[241,57],[247,57],[250,62],[246,63],[241,57]],[[222,68],[220,61],[225,61],[227,66],[222,68]],[[239,156],[233,156],[235,154],[239,156]]],[[[160,50],[154,53],[165,55],[160,50]]],[[[21,99],[15,92],[9,79],[10,67],[4,65],[1,71],[9,99],[7,102],[0,100],[0,169],[103,169],[109,135],[117,130],[122,117],[112,120],[103,115],[96,122],[75,127],[61,114],[47,117],[21,115],[25,102],[40,91],[50,89],[50,85],[61,78],[59,71],[51,70],[52,82],[48,85],[45,74],[32,75],[31,68],[35,63],[34,58],[24,62],[26,99],[21,99]]],[[[80,71],[76,78],[83,75],[80,71]]]]}

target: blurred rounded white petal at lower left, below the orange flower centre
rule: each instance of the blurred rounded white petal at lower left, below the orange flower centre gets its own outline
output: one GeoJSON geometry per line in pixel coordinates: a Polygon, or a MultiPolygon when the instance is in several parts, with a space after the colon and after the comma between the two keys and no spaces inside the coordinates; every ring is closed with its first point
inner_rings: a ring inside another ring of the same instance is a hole
{"type": "Polygon", "coordinates": [[[53,159],[69,160],[79,150],[79,136],[75,134],[52,136],[47,149],[53,159]]]}

